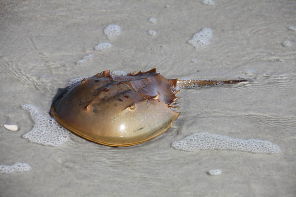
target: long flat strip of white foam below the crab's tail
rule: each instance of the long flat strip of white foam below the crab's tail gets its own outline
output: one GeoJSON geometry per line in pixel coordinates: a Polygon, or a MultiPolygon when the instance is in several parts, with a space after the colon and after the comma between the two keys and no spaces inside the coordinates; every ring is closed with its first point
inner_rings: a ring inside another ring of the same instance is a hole
{"type": "Polygon", "coordinates": [[[182,140],[175,141],[173,148],[183,151],[194,150],[237,150],[251,153],[270,153],[280,152],[280,147],[270,141],[259,139],[238,139],[215,133],[196,132],[188,135],[182,140]]]}

